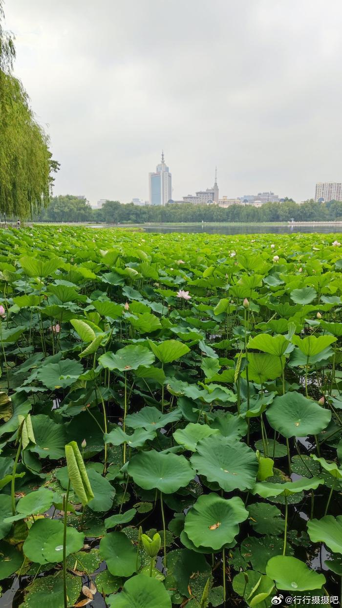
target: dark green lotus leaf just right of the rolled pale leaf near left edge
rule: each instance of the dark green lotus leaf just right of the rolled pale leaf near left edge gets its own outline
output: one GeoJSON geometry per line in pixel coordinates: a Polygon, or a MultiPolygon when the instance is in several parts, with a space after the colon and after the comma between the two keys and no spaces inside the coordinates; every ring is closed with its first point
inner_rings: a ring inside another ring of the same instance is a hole
{"type": "Polygon", "coordinates": [[[66,443],[66,429],[63,424],[56,424],[44,414],[32,416],[32,427],[35,435],[35,444],[27,448],[41,458],[57,460],[64,457],[66,443]]]}

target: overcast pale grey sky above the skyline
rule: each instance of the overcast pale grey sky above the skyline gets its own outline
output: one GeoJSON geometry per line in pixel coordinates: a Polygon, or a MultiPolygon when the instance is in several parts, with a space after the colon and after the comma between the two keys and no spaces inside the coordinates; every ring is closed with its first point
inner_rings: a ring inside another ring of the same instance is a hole
{"type": "Polygon", "coordinates": [[[173,198],[341,181],[340,0],[6,0],[15,74],[61,162],[56,194],[173,198]]]}

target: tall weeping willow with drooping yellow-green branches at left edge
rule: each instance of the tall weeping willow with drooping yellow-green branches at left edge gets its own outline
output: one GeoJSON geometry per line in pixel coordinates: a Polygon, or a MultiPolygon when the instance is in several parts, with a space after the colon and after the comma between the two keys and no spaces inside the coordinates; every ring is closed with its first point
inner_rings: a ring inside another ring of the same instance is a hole
{"type": "Polygon", "coordinates": [[[0,213],[27,217],[49,203],[59,165],[26,91],[12,74],[15,46],[3,20],[0,0],[0,213]]]}

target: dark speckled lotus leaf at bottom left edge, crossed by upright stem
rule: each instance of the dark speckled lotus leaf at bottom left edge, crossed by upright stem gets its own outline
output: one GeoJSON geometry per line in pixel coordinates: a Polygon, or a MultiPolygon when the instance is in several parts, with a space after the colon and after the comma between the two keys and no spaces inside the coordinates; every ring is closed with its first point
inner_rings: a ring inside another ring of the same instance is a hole
{"type": "MultiPolygon", "coordinates": [[[[81,593],[80,576],[66,575],[67,606],[74,606],[81,593]]],[[[63,572],[39,576],[26,588],[21,608],[64,608],[63,572]]]]}

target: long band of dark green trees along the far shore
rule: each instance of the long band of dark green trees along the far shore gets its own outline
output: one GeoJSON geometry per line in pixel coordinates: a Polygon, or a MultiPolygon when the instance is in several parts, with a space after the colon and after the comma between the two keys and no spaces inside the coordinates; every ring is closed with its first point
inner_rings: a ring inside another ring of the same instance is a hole
{"type": "Polygon", "coordinates": [[[54,196],[50,205],[33,215],[34,221],[94,222],[107,224],[145,224],[151,222],[287,222],[342,221],[342,202],[315,202],[313,199],[297,204],[265,202],[262,207],[231,205],[224,209],[216,204],[197,205],[173,203],[162,206],[137,206],[132,203],[106,201],[101,209],[92,209],[89,202],[77,196],[54,196]]]}

